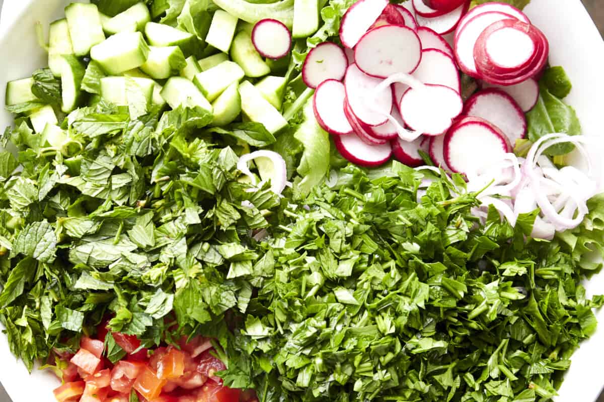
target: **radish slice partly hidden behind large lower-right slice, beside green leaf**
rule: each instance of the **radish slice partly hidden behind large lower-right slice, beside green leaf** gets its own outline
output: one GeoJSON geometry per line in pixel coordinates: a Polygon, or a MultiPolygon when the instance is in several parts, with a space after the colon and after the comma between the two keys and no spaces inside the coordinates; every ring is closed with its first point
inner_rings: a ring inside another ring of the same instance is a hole
{"type": "Polygon", "coordinates": [[[464,114],[495,125],[506,134],[512,146],[526,135],[524,112],[512,96],[500,89],[485,89],[472,95],[466,101],[464,114]]]}

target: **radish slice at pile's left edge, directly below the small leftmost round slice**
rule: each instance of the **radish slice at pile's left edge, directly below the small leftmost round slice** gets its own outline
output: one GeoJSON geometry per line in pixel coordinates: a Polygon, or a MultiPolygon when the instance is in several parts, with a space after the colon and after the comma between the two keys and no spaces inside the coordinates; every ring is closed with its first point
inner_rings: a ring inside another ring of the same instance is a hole
{"type": "Polygon", "coordinates": [[[344,113],[346,92],[344,84],[336,80],[321,83],[313,96],[316,121],[330,134],[352,133],[350,122],[344,113]]]}

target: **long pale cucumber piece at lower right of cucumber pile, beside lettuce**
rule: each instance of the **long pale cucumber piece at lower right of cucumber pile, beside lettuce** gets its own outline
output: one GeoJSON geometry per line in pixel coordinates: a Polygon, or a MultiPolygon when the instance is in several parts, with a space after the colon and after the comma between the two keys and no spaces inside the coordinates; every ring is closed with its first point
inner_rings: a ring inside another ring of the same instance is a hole
{"type": "Polygon", "coordinates": [[[281,113],[249,81],[239,84],[241,110],[253,122],[262,123],[271,134],[288,125],[281,113]]]}

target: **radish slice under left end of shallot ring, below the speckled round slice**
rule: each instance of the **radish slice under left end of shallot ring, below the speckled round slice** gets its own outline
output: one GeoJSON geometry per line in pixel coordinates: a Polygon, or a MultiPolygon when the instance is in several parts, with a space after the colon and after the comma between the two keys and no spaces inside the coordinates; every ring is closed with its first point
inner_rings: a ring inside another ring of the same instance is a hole
{"type": "Polygon", "coordinates": [[[384,113],[390,113],[392,110],[393,102],[390,88],[374,93],[376,87],[381,83],[382,80],[365,74],[356,64],[351,64],[346,71],[344,87],[350,110],[364,124],[374,126],[384,124],[388,119],[384,113]],[[373,108],[367,105],[372,96],[375,98],[373,108]]]}

